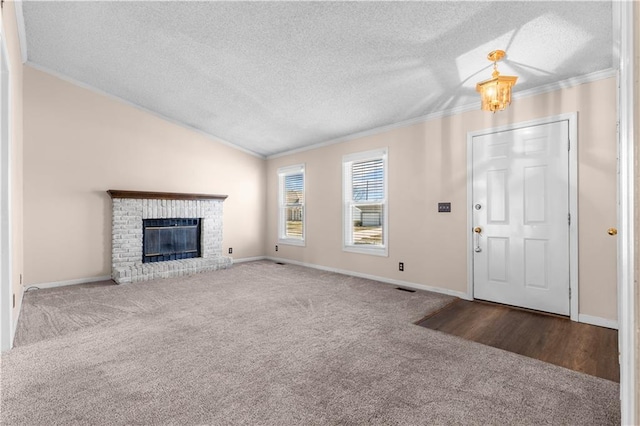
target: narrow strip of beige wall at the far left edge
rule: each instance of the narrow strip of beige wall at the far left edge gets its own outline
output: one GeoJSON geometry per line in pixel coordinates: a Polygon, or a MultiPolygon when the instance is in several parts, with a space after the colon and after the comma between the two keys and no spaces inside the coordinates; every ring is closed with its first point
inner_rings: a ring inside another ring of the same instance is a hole
{"type": "MultiPolygon", "coordinates": [[[[4,3],[2,9],[2,25],[9,53],[10,75],[10,110],[11,124],[11,285],[16,297],[13,309],[14,324],[18,320],[20,304],[22,302],[22,285],[20,276],[23,272],[23,131],[22,131],[22,59],[20,56],[20,42],[16,24],[15,6],[12,1],[4,3]]],[[[4,302],[3,302],[4,303],[4,302]]]]}

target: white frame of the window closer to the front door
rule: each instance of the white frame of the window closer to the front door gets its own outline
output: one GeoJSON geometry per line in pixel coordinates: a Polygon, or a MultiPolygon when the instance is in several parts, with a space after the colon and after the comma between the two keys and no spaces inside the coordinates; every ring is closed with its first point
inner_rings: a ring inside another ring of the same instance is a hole
{"type": "Polygon", "coordinates": [[[350,253],[369,254],[374,256],[389,256],[389,168],[388,148],[347,154],[342,157],[342,250],[350,253]],[[356,245],[353,244],[353,217],[352,207],[352,171],[353,163],[382,160],[383,166],[383,190],[384,197],[381,201],[372,204],[382,205],[382,244],[381,245],[356,245]]]}

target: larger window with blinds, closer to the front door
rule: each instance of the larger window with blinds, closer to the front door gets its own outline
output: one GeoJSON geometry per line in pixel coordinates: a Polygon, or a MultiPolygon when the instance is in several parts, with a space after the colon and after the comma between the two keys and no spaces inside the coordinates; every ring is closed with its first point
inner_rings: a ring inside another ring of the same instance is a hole
{"type": "Polygon", "coordinates": [[[344,250],[387,256],[387,150],[342,159],[344,250]]]}

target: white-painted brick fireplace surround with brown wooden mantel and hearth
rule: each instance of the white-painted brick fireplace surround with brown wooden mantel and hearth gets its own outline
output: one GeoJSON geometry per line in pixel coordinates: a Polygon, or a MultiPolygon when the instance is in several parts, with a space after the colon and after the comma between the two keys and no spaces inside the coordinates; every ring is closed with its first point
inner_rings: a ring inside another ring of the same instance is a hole
{"type": "Polygon", "coordinates": [[[226,195],[114,189],[107,192],[113,205],[111,277],[116,283],[191,275],[228,268],[233,263],[230,257],[222,255],[222,203],[226,195]],[[200,257],[143,262],[143,223],[149,219],[183,222],[197,219],[200,257]]]}

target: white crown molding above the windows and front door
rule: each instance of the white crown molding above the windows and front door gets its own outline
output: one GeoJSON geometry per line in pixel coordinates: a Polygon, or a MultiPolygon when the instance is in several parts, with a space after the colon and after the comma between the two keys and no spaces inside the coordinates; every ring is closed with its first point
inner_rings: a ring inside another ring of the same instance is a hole
{"type": "MultiPolygon", "coordinates": [[[[614,2],[615,3],[615,2],[614,2]]],[[[555,83],[546,84],[544,86],[536,87],[533,89],[524,90],[522,92],[514,92],[513,99],[521,99],[527,98],[530,96],[541,95],[544,93],[553,92],[559,89],[567,89],[573,86],[579,86],[585,83],[593,83],[594,81],[604,80],[606,78],[614,77],[616,75],[616,70],[614,69],[606,69],[602,71],[596,71],[590,74],[585,74],[578,77],[571,77],[566,80],[558,81],[555,83]]],[[[449,117],[452,115],[462,114],[464,112],[476,111],[480,109],[480,101],[474,102],[473,104],[461,105],[455,108],[436,111],[430,114],[422,115],[420,117],[411,118],[409,120],[399,121],[397,123],[389,124],[387,126],[376,127],[374,129],[365,130],[363,132],[352,133],[346,136],[340,136],[339,138],[330,139],[325,142],[319,142],[313,145],[295,148],[288,151],[280,152],[277,154],[268,155],[267,160],[271,160],[273,158],[284,157],[286,155],[298,154],[300,152],[310,151],[313,149],[323,148],[325,146],[335,145],[342,142],[348,142],[355,139],[364,138],[367,136],[377,135],[380,133],[388,132],[394,129],[409,127],[415,124],[424,123],[431,120],[437,120],[444,117],[449,117]]]]}

